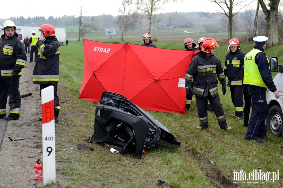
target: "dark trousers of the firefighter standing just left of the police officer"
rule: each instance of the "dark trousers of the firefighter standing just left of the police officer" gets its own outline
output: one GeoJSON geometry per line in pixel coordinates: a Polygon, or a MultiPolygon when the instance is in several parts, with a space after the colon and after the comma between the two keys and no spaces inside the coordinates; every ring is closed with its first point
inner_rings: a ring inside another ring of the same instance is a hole
{"type": "Polygon", "coordinates": [[[244,101],[243,101],[243,86],[230,87],[231,99],[235,107],[235,116],[243,117],[244,101]]]}

